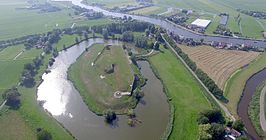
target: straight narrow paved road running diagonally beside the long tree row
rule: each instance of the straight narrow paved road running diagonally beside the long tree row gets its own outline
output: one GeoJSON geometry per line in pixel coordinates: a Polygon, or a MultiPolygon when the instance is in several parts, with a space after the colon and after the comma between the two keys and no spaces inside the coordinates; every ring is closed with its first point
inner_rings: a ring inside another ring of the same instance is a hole
{"type": "MultiPolygon", "coordinates": [[[[163,37],[163,35],[162,35],[163,37]]],[[[175,49],[165,40],[166,44],[170,47],[170,49],[174,52],[174,54],[181,60],[181,62],[185,65],[185,67],[190,71],[190,73],[197,79],[197,81],[202,85],[202,87],[207,91],[207,93],[213,98],[213,100],[219,105],[219,107],[224,111],[227,117],[231,118],[232,121],[235,121],[235,117],[228,111],[228,109],[216,99],[216,97],[209,91],[209,89],[202,83],[202,81],[198,78],[198,76],[194,73],[193,70],[190,69],[190,67],[187,65],[187,63],[183,60],[181,56],[178,55],[178,53],[175,51],[175,49]]]]}

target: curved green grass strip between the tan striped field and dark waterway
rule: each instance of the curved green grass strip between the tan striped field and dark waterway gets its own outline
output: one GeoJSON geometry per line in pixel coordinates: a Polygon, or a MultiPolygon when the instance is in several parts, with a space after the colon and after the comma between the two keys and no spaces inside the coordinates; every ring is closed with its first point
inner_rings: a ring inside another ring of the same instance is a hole
{"type": "Polygon", "coordinates": [[[266,53],[263,53],[248,67],[238,71],[227,80],[227,86],[225,87],[224,94],[226,98],[229,99],[229,102],[226,104],[226,107],[234,116],[237,116],[237,105],[242,95],[246,81],[254,73],[266,67],[265,61],[266,53]]]}

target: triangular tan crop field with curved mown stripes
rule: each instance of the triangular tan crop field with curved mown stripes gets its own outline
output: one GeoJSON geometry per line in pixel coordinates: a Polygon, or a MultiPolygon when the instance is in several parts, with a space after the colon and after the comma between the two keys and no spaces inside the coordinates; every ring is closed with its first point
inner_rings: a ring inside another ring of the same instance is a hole
{"type": "Polygon", "coordinates": [[[249,64],[259,55],[257,52],[215,49],[208,46],[180,48],[206,72],[215,83],[224,89],[227,79],[238,69],[249,64]]]}

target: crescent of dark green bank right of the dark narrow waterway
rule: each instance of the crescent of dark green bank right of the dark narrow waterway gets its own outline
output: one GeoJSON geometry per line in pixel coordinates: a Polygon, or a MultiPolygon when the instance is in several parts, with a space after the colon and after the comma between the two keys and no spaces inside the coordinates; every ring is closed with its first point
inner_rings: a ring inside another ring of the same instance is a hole
{"type": "Polygon", "coordinates": [[[260,125],[260,95],[262,92],[263,87],[266,85],[264,81],[256,88],[256,92],[252,96],[252,100],[248,107],[248,115],[251,119],[253,126],[255,127],[257,133],[261,137],[265,137],[265,133],[263,132],[261,125],[260,125]]]}

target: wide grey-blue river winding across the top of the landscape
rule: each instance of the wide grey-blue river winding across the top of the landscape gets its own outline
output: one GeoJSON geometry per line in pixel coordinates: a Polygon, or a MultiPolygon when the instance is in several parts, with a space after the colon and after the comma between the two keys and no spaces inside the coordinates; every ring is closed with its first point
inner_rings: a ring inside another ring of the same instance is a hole
{"type": "Polygon", "coordinates": [[[176,35],[181,35],[186,38],[194,38],[194,39],[204,39],[205,41],[217,41],[217,42],[224,42],[228,44],[246,44],[246,45],[252,45],[252,46],[258,46],[258,47],[266,47],[266,41],[255,41],[252,39],[246,39],[246,38],[234,38],[234,37],[223,37],[223,36],[211,36],[211,35],[204,35],[204,34],[197,34],[194,32],[191,32],[189,30],[186,30],[184,28],[181,28],[179,26],[176,26],[170,22],[167,22],[162,19],[152,18],[152,17],[145,17],[145,16],[139,16],[139,15],[130,15],[130,14],[123,14],[123,13],[115,13],[110,12],[107,10],[104,10],[100,7],[95,6],[89,6],[85,5],[81,2],[81,0],[53,0],[53,1],[71,1],[73,5],[77,5],[86,9],[92,9],[97,12],[102,12],[106,16],[112,16],[112,17],[124,17],[124,16],[131,16],[133,19],[139,20],[139,21],[145,21],[149,22],[155,25],[158,25],[168,31],[173,32],[176,35]]]}

